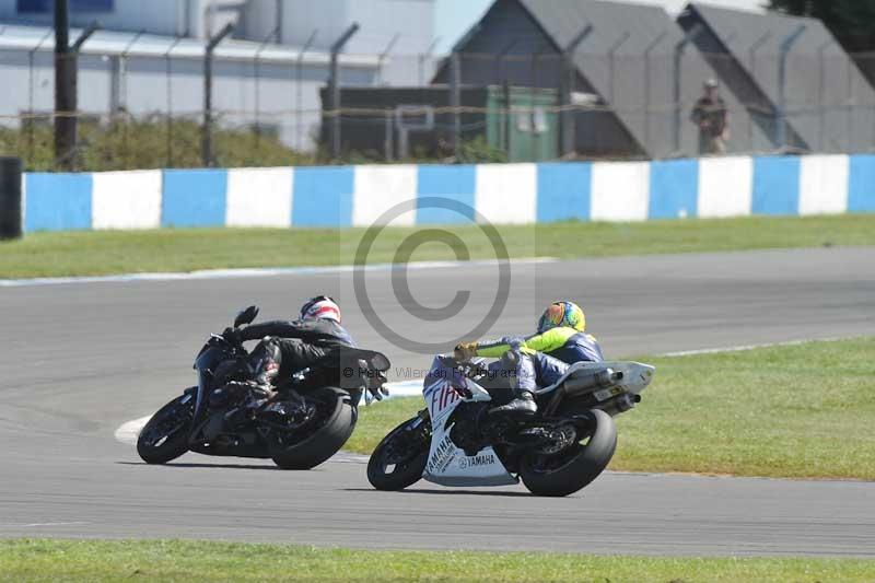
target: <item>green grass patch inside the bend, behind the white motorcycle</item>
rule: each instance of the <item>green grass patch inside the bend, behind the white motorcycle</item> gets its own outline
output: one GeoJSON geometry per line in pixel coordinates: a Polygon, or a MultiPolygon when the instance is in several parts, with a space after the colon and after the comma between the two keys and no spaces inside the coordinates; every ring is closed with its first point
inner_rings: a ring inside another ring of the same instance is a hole
{"type": "MultiPolygon", "coordinates": [[[[617,418],[611,469],[875,480],[875,338],[680,358],[617,418]]],[[[348,448],[369,453],[422,407],[362,408],[348,448]]]]}

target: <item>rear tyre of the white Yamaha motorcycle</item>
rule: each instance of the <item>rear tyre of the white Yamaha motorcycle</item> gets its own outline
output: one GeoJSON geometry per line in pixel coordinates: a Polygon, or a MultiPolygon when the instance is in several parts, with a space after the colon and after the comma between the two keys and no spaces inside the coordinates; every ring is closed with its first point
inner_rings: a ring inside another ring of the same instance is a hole
{"type": "Polygon", "coordinates": [[[584,488],[607,467],[617,448],[617,425],[605,411],[592,409],[590,431],[557,455],[529,455],[520,466],[520,477],[536,495],[568,495],[584,488]],[[584,443],[585,442],[585,443],[584,443]]]}

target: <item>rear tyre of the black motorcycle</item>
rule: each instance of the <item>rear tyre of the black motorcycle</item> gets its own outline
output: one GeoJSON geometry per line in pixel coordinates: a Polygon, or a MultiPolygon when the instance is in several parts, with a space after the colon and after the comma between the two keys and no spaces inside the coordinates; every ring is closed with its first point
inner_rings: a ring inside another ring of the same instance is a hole
{"type": "Polygon", "coordinates": [[[282,469],[311,469],[335,455],[355,429],[358,419],[350,396],[340,388],[319,388],[305,395],[315,415],[304,427],[289,432],[272,430],[268,448],[282,469]]]}

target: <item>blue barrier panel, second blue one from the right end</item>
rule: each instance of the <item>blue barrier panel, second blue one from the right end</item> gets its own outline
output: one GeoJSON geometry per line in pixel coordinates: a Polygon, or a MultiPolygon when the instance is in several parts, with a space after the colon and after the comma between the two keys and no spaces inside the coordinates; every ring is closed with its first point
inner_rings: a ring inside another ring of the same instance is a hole
{"type": "Polygon", "coordinates": [[[752,214],[798,214],[800,158],[754,156],[752,214]]]}

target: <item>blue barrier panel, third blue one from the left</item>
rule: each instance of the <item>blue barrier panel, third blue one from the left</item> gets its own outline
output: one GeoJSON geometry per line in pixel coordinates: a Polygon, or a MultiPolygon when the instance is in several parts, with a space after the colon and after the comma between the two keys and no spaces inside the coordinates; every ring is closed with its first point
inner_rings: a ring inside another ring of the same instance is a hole
{"type": "Polygon", "coordinates": [[[292,226],[350,226],[353,166],[294,170],[292,226]]]}

